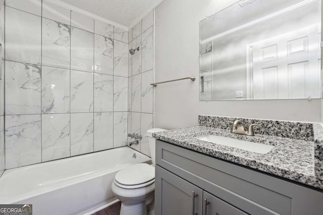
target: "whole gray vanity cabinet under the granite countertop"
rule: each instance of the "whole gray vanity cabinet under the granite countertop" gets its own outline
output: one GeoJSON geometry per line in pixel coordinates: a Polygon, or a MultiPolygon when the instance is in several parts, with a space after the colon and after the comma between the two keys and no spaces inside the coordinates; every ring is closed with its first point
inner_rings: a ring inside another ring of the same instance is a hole
{"type": "Polygon", "coordinates": [[[160,140],[155,170],[156,215],[323,214],[321,190],[160,140]]]}

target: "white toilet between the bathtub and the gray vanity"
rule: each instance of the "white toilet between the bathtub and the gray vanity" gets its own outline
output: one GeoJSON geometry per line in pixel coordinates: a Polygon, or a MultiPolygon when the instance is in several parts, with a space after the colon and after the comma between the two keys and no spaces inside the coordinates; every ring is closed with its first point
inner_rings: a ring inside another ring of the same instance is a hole
{"type": "Polygon", "coordinates": [[[147,130],[152,165],[134,164],[120,170],[112,184],[112,190],[121,201],[120,215],[153,215],[155,193],[155,138],[152,133],[161,128],[147,130]]]}

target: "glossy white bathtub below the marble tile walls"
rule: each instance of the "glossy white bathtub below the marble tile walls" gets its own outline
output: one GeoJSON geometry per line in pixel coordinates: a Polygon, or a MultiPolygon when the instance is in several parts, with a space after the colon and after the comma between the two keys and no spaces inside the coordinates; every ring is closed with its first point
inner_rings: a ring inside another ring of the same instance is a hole
{"type": "Polygon", "coordinates": [[[34,215],[91,213],[116,201],[111,185],[120,169],[150,162],[122,147],[6,170],[0,178],[0,204],[33,204],[34,215]]]}

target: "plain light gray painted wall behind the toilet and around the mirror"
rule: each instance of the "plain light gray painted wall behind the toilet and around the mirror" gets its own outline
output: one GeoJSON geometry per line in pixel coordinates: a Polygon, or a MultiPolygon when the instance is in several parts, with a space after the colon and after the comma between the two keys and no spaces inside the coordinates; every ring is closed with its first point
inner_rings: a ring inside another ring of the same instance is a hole
{"type": "Polygon", "coordinates": [[[192,82],[158,85],[154,90],[154,126],[182,128],[198,124],[199,114],[293,121],[320,121],[320,99],[199,101],[199,21],[235,0],[164,0],[155,8],[154,81],[196,76],[192,82]]]}

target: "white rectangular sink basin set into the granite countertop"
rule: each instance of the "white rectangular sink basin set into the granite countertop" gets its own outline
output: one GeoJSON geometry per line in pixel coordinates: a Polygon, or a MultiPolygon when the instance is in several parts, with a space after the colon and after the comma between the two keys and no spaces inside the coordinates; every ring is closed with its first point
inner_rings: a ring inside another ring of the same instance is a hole
{"type": "Polygon", "coordinates": [[[196,136],[194,138],[204,140],[207,142],[213,142],[213,144],[234,147],[237,149],[260,153],[260,154],[266,154],[274,148],[274,146],[270,146],[270,145],[257,144],[256,142],[249,142],[249,141],[234,139],[234,138],[225,137],[225,136],[216,136],[212,134],[205,134],[202,136],[196,136]]]}

